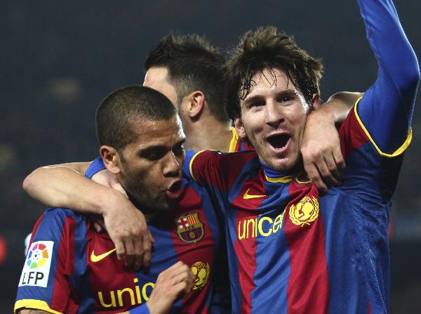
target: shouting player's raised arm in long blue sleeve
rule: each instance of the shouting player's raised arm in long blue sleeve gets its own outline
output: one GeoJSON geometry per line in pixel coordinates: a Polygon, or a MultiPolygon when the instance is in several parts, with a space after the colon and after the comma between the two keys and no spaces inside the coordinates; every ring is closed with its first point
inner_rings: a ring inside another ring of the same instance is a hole
{"type": "Polygon", "coordinates": [[[379,70],[356,112],[380,154],[390,157],[410,140],[420,68],[392,1],[357,2],[379,70]]]}

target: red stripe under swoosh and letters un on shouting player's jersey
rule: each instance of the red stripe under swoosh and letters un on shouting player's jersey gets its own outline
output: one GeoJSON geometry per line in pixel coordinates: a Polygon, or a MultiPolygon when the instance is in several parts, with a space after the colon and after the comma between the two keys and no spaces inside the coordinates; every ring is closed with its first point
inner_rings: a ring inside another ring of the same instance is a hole
{"type": "MultiPolygon", "coordinates": [[[[239,195],[232,204],[236,207],[236,241],[234,251],[239,263],[239,282],[241,287],[241,313],[251,312],[251,292],[255,289],[256,237],[258,209],[265,199],[265,186],[258,178],[244,181],[239,195]]],[[[257,309],[258,310],[258,309],[257,309]]]]}

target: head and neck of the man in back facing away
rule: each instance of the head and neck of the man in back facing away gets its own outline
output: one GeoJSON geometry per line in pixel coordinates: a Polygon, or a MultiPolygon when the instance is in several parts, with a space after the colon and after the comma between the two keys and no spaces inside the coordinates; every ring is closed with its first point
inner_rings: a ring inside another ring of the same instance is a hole
{"type": "Polygon", "coordinates": [[[225,57],[206,37],[170,32],[145,61],[144,86],[167,96],[177,108],[186,148],[233,151],[240,145],[225,112],[225,57]],[[206,136],[212,133],[213,136],[206,136]]]}

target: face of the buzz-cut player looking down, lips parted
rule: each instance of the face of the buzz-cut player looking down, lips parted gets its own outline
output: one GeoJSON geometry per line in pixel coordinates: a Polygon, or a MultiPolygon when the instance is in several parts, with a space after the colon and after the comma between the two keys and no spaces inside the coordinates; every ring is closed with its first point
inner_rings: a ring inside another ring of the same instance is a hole
{"type": "Polygon", "coordinates": [[[180,118],[140,120],[133,124],[136,140],[126,145],[119,181],[139,206],[168,211],[182,194],[181,172],[185,135],[180,118]]]}

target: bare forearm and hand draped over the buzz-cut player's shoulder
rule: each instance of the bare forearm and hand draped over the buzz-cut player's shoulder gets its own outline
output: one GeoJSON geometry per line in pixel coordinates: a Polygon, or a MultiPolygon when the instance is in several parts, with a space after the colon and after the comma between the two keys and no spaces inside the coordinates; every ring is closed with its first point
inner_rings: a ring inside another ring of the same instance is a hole
{"type": "Polygon", "coordinates": [[[103,216],[119,259],[125,259],[128,266],[136,269],[149,266],[153,239],[145,216],[123,193],[85,178],[88,165],[41,167],[25,178],[23,188],[48,206],[103,216]]]}

